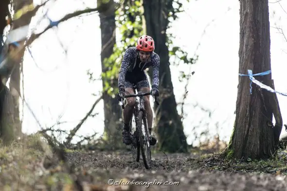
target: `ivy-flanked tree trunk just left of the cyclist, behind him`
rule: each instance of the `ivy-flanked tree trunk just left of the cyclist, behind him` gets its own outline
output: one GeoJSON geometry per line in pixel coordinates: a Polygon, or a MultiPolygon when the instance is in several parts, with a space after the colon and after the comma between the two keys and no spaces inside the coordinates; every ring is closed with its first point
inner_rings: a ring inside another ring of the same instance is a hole
{"type": "MultiPolygon", "coordinates": [[[[112,0],[109,0],[106,3],[111,3],[112,0]]],[[[105,2],[105,1],[103,1],[105,2]]],[[[98,0],[98,6],[103,3],[101,0],[98,0]]],[[[108,59],[113,53],[113,47],[116,43],[116,24],[115,24],[115,9],[114,6],[111,6],[105,12],[100,12],[100,22],[101,22],[101,36],[102,36],[102,52],[101,52],[101,61],[102,61],[102,72],[108,70],[107,64],[105,64],[105,59],[108,59]]],[[[122,132],[121,132],[121,107],[117,99],[112,98],[108,91],[105,89],[106,83],[112,88],[116,89],[118,85],[118,79],[116,78],[106,78],[102,79],[103,82],[103,100],[104,100],[104,116],[105,116],[105,138],[108,139],[110,146],[114,149],[121,147],[122,143],[122,132]]]]}

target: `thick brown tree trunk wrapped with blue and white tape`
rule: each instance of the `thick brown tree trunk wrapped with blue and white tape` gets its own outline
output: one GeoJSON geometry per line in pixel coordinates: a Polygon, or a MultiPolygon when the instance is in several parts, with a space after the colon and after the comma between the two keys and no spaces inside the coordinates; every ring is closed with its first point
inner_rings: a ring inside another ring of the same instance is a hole
{"type": "MultiPolygon", "coordinates": [[[[271,69],[268,0],[240,0],[239,73],[260,73],[271,69]]],[[[255,76],[274,88],[271,74],[255,76]]],[[[274,154],[282,129],[282,117],[276,94],[260,89],[250,79],[239,76],[236,118],[228,147],[235,158],[265,158],[274,154]],[[276,125],[272,125],[274,113],[276,125]]]]}

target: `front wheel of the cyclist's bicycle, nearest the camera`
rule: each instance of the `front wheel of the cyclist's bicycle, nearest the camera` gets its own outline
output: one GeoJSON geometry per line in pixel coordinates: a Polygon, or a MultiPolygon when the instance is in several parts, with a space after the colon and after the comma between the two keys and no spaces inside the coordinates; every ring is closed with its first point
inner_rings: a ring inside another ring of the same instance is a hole
{"type": "Polygon", "coordinates": [[[140,140],[140,146],[143,156],[143,163],[146,169],[150,169],[151,167],[151,150],[149,144],[149,133],[146,122],[146,117],[143,115],[143,111],[139,111],[138,119],[137,119],[137,129],[138,129],[138,137],[140,140]]]}

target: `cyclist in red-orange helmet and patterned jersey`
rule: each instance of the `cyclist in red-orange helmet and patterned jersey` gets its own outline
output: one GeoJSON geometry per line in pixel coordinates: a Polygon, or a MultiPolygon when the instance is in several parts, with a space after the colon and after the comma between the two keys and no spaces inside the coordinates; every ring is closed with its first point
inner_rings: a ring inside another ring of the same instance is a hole
{"type": "MultiPolygon", "coordinates": [[[[137,91],[149,92],[152,96],[158,97],[159,92],[159,69],[160,69],[160,56],[154,52],[155,43],[152,37],[142,35],[137,41],[136,47],[130,47],[126,50],[122,60],[121,69],[119,72],[119,93],[118,100],[124,99],[124,95],[134,94],[133,85],[137,86],[137,91]],[[152,67],[152,88],[150,90],[149,82],[145,73],[145,69],[152,67]]],[[[129,133],[129,121],[133,115],[133,108],[136,104],[136,98],[126,98],[126,106],[123,110],[123,142],[126,145],[131,143],[129,133]]],[[[151,134],[153,114],[149,103],[149,96],[144,96],[144,108],[147,115],[147,126],[151,134]]],[[[155,145],[157,139],[152,137],[150,145],[155,145]]]]}

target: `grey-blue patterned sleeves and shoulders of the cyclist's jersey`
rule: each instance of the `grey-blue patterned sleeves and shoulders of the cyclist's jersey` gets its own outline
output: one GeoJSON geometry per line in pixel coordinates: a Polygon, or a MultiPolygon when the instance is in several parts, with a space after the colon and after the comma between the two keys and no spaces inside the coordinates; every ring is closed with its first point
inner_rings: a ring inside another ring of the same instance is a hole
{"type": "MultiPolygon", "coordinates": [[[[124,86],[125,85],[125,78],[126,78],[126,72],[133,72],[135,68],[135,65],[137,61],[140,58],[138,57],[138,52],[136,47],[130,47],[126,50],[124,58],[122,60],[121,69],[119,72],[119,80],[118,80],[118,86],[124,86]],[[137,59],[136,59],[137,58],[137,59]]],[[[150,59],[146,63],[141,63],[141,72],[145,70],[146,68],[152,67],[152,87],[156,86],[159,87],[160,79],[159,79],[159,69],[160,69],[160,56],[152,52],[150,55],[150,59]]],[[[134,74],[137,75],[136,71],[134,74]]],[[[143,71],[144,72],[144,71],[143,71]]]]}

